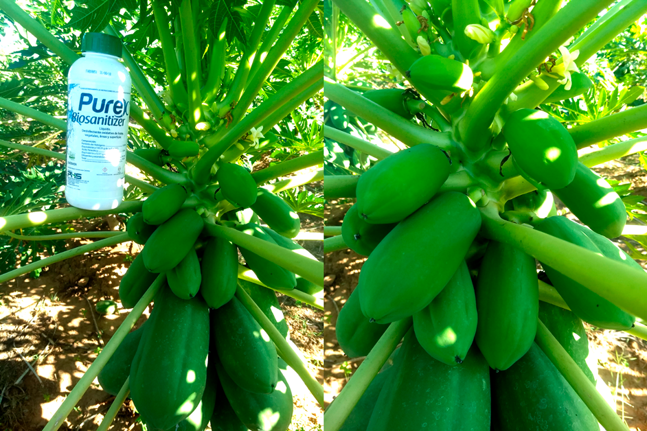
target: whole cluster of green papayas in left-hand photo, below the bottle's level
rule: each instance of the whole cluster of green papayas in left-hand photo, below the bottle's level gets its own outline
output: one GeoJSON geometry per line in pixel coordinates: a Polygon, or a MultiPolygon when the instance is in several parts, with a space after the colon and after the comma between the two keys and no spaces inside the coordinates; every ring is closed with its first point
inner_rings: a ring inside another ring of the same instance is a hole
{"type": "MultiPolygon", "coordinates": [[[[216,180],[217,193],[240,207],[225,213],[225,224],[308,254],[291,240],[300,229],[298,215],[257,188],[244,167],[224,164],[216,180]],[[261,226],[259,217],[270,227],[261,226]]],[[[122,304],[135,307],[157,277],[165,281],[150,318],[126,336],[99,382],[116,395],[129,377],[130,397],[149,429],[204,430],[211,421],[213,430],[287,430],[293,399],[282,373],[286,364],[235,294],[237,286],[245,290],[288,338],[271,288],[299,288],[295,274],[240,247],[249,269],[269,288],[238,279],[238,248],[208,236],[207,213],[198,213],[188,198],[183,185],[166,185],[128,220],[130,237],[144,248],[120,283],[122,304]]],[[[303,281],[300,288],[313,287],[303,281]]]]}

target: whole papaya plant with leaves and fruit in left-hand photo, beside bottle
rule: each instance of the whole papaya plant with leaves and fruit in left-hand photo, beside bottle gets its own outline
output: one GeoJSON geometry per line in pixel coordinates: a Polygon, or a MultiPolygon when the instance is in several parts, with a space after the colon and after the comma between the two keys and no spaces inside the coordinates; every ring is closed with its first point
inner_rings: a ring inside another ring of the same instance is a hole
{"type": "MultiPolygon", "coordinates": [[[[323,163],[321,129],[314,124],[321,122],[323,87],[320,9],[319,0],[155,0],[139,8],[89,0],[71,10],[60,2],[23,9],[0,1],[1,12],[38,41],[43,58],[36,61],[47,60],[59,75],[80,58],[82,34],[120,38],[133,81],[126,161],[145,178],[126,175],[128,190],[139,192],[124,194],[110,210],[61,205],[64,184],[58,184],[50,205],[39,189],[25,188],[0,217],[0,231],[25,242],[101,238],[25,260],[0,282],[122,242],[144,246],[120,282],[120,301],[132,310],[46,430],[60,428],[95,377],[116,397],[100,430],[109,428],[129,394],[148,429],[204,430],[211,421],[214,430],[287,430],[293,412],[287,366],[323,405],[323,388],[289,340],[274,294],[323,309],[321,297],[313,296],[323,289],[323,264],[297,244],[302,230],[295,211],[321,212],[320,198],[299,191],[323,179],[316,168],[323,163]],[[58,25],[65,31],[57,32],[58,25]],[[281,145],[273,131],[294,123],[286,134],[291,143],[281,145]],[[280,154],[279,162],[251,172],[251,160],[268,154],[280,154]],[[129,215],[126,231],[30,235],[36,226],[106,214],[129,215]],[[150,318],[130,333],[151,301],[150,318]]],[[[27,89],[33,92],[33,85],[27,89]]],[[[56,104],[43,112],[19,86],[12,88],[0,98],[1,108],[65,136],[67,121],[56,117],[56,104]]],[[[58,90],[47,97],[66,106],[58,90]]],[[[49,149],[0,145],[65,160],[63,139],[49,149]]]]}

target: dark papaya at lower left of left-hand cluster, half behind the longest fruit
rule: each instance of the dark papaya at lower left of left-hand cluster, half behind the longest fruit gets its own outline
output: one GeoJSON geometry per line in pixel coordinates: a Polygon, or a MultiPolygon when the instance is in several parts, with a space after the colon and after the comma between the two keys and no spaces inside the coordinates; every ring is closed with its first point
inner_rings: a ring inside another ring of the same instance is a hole
{"type": "Polygon", "coordinates": [[[130,375],[130,365],[133,364],[133,358],[135,358],[141,335],[144,334],[143,328],[145,325],[146,322],[124,337],[113,356],[110,357],[99,372],[97,376],[99,384],[110,395],[116,397],[122,386],[124,386],[128,375],[130,375]]]}

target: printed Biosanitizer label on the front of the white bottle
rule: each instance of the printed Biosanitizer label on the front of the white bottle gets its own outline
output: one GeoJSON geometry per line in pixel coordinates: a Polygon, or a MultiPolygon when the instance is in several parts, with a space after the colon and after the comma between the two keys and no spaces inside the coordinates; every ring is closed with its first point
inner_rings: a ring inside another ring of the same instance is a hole
{"type": "Polygon", "coordinates": [[[124,187],[130,89],[79,81],[67,87],[67,189],[84,195],[124,187]]]}

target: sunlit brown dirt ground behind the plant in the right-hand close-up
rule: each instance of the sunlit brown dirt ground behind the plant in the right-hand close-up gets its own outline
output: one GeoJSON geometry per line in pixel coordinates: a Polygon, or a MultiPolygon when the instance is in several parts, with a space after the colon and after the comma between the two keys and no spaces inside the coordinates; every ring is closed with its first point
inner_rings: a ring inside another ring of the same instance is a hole
{"type": "MultiPolygon", "coordinates": [[[[621,161],[612,161],[595,168],[605,178],[623,183],[631,182],[631,192],[647,196],[647,173],[640,166],[638,156],[629,156],[621,161]]],[[[354,199],[328,201],[326,205],[326,226],[339,226],[343,215],[352,206],[354,199]]],[[[567,213],[558,205],[560,213],[567,213]]],[[[576,219],[575,219],[576,220],[576,219]]],[[[620,246],[626,247],[622,242],[620,246]]],[[[324,310],[324,391],[326,405],[340,392],[364,358],[350,359],[341,350],[334,334],[339,310],[359,280],[359,272],[365,257],[350,249],[328,253],[324,266],[326,302],[324,310]]],[[[647,261],[640,261],[647,269],[647,261]]],[[[587,327],[589,356],[598,363],[598,374],[615,395],[618,415],[631,431],[647,431],[647,341],[622,331],[587,327]]]]}

